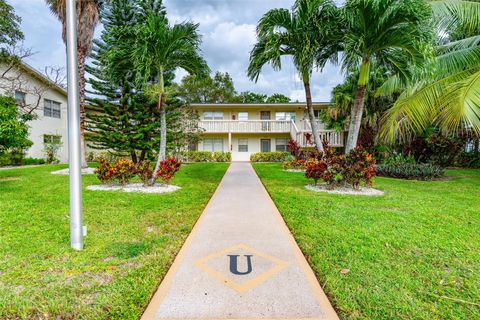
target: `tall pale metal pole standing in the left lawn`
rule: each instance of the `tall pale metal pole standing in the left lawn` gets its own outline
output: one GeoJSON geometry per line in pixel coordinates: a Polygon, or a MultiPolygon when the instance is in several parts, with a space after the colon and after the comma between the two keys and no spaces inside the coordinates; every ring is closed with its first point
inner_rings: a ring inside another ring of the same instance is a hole
{"type": "Polygon", "coordinates": [[[70,245],[83,250],[80,97],[78,89],[76,1],[66,0],[70,245]]]}

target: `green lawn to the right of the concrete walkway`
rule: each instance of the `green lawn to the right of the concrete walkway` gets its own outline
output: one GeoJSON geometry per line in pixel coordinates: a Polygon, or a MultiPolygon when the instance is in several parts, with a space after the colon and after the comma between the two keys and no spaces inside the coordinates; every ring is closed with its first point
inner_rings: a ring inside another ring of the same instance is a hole
{"type": "Polygon", "coordinates": [[[366,197],[254,167],[342,319],[480,319],[480,170],[377,178],[386,195],[366,197]]]}

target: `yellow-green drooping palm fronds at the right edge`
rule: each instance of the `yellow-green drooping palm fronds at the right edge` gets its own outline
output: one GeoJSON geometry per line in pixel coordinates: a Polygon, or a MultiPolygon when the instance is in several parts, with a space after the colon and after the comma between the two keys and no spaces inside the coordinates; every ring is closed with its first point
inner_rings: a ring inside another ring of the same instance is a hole
{"type": "Polygon", "coordinates": [[[443,43],[436,47],[431,72],[406,87],[391,81],[379,92],[401,92],[383,119],[380,137],[387,142],[408,140],[432,125],[443,134],[480,136],[480,3],[441,0],[431,5],[443,43]]]}

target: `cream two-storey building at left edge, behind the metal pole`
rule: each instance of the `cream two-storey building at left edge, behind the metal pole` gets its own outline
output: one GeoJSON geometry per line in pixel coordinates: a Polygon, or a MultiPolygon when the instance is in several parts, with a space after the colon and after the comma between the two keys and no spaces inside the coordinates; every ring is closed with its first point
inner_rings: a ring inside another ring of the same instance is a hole
{"type": "Polygon", "coordinates": [[[35,115],[27,123],[33,145],[26,156],[45,158],[44,144],[59,142],[58,158],[68,162],[66,90],[26,63],[0,63],[0,94],[14,96],[19,107],[35,115]]]}

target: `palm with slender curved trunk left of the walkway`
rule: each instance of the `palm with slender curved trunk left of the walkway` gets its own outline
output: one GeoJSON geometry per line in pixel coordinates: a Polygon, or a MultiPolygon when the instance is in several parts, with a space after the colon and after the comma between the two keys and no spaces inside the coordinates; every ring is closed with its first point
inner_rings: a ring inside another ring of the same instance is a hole
{"type": "Polygon", "coordinates": [[[160,111],[160,149],[151,183],[154,184],[160,162],[165,160],[167,124],[165,115],[165,75],[177,68],[190,74],[209,73],[205,60],[199,54],[201,37],[198,24],[190,22],[170,26],[163,12],[149,11],[137,30],[137,41],[132,51],[137,80],[146,85],[146,91],[155,97],[160,111]]]}

